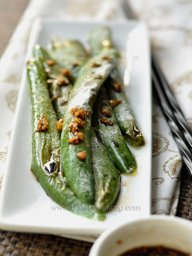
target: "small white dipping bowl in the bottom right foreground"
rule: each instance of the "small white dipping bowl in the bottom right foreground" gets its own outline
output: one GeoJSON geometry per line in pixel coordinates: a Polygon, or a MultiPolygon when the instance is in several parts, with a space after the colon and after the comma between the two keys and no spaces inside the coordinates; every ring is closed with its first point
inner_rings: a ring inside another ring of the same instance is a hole
{"type": "Polygon", "coordinates": [[[192,223],[179,217],[151,215],[107,229],[89,256],[117,256],[140,246],[169,247],[192,255],[192,223]]]}

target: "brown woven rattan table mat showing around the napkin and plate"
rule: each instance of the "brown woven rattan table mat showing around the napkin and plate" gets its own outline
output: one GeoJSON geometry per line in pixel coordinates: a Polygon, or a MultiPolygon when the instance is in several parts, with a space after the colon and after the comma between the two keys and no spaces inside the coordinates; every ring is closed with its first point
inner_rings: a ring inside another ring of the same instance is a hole
{"type": "MultiPolygon", "coordinates": [[[[14,31],[28,0],[0,0],[0,56],[14,31]]],[[[192,183],[185,167],[181,174],[177,216],[192,220],[192,183]]],[[[0,230],[1,255],[88,255],[92,243],[54,235],[0,230]]]]}

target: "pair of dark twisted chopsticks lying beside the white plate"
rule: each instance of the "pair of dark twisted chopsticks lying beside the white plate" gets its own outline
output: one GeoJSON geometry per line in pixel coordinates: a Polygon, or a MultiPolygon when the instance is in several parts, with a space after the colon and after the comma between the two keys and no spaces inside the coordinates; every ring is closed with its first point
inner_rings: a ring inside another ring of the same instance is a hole
{"type": "MultiPolygon", "coordinates": [[[[122,6],[128,19],[137,19],[127,0],[122,0],[122,6]]],[[[192,131],[153,54],[152,80],[164,116],[192,181],[192,131]]]]}

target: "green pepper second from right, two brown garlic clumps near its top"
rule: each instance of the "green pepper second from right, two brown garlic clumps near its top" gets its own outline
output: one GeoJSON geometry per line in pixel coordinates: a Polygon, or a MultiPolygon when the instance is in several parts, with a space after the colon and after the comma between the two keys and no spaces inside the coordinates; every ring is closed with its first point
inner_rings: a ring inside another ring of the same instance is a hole
{"type": "Polygon", "coordinates": [[[117,169],[120,172],[132,172],[137,167],[135,158],[124,141],[104,88],[100,91],[97,99],[93,126],[117,169]]]}

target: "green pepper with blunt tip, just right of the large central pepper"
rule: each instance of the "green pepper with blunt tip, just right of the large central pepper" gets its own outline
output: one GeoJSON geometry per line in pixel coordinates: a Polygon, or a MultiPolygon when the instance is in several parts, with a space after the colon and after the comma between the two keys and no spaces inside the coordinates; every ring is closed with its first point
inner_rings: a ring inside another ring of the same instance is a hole
{"type": "Polygon", "coordinates": [[[92,128],[92,169],[95,185],[95,205],[103,212],[113,205],[120,190],[120,174],[106,148],[92,128]]]}

